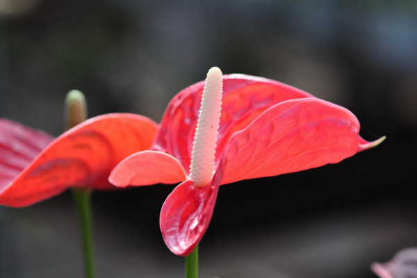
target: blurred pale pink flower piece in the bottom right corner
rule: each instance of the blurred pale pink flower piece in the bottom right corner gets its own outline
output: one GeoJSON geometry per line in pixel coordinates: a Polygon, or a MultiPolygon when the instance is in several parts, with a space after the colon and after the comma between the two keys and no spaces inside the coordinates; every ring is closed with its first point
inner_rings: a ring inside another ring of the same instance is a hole
{"type": "Polygon", "coordinates": [[[417,277],[417,248],[401,250],[387,263],[373,263],[370,267],[381,278],[417,277]]]}

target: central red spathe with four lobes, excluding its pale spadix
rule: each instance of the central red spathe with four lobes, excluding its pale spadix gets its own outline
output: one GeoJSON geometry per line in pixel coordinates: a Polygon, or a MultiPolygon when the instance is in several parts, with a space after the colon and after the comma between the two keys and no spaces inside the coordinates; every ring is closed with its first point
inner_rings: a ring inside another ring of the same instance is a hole
{"type": "Polygon", "coordinates": [[[174,254],[190,254],[201,240],[219,185],[338,163],[380,142],[359,136],[359,122],[350,111],[302,90],[243,74],[225,75],[222,81],[210,181],[197,185],[190,174],[204,82],[170,101],[151,150],[125,158],[109,178],[121,187],[183,181],[161,210],[163,238],[174,254]]]}

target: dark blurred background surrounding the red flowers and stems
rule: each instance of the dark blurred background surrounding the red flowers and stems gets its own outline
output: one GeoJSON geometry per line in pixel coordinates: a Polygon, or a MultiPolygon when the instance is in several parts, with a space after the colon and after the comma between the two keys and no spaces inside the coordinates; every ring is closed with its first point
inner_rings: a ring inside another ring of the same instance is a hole
{"type": "MultiPolygon", "coordinates": [[[[350,109],[375,149],[336,165],[222,186],[201,277],[371,278],[417,245],[416,1],[0,0],[0,117],[63,132],[63,99],[90,117],[155,121],[224,74],[275,79],[350,109]]],[[[183,277],[158,214],[174,186],[94,193],[99,277],[183,277]]],[[[69,193],[0,207],[0,277],[82,277],[69,193]]]]}

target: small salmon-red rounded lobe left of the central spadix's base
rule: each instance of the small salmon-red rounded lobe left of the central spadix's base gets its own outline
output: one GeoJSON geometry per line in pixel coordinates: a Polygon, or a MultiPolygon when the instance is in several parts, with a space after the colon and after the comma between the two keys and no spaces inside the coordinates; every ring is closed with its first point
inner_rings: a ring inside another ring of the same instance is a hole
{"type": "Polygon", "coordinates": [[[155,183],[178,183],[186,172],[173,156],[164,152],[143,151],[125,158],[111,172],[108,181],[115,186],[149,186],[155,183]]]}

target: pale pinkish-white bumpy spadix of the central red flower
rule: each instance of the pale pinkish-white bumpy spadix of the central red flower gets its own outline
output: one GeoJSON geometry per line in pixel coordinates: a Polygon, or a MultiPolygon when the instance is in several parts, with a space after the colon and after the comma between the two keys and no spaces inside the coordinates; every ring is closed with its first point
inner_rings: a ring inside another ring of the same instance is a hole
{"type": "Polygon", "coordinates": [[[212,67],[208,70],[204,85],[191,155],[190,178],[195,186],[204,186],[213,177],[222,92],[222,71],[218,67],[212,67]]]}

